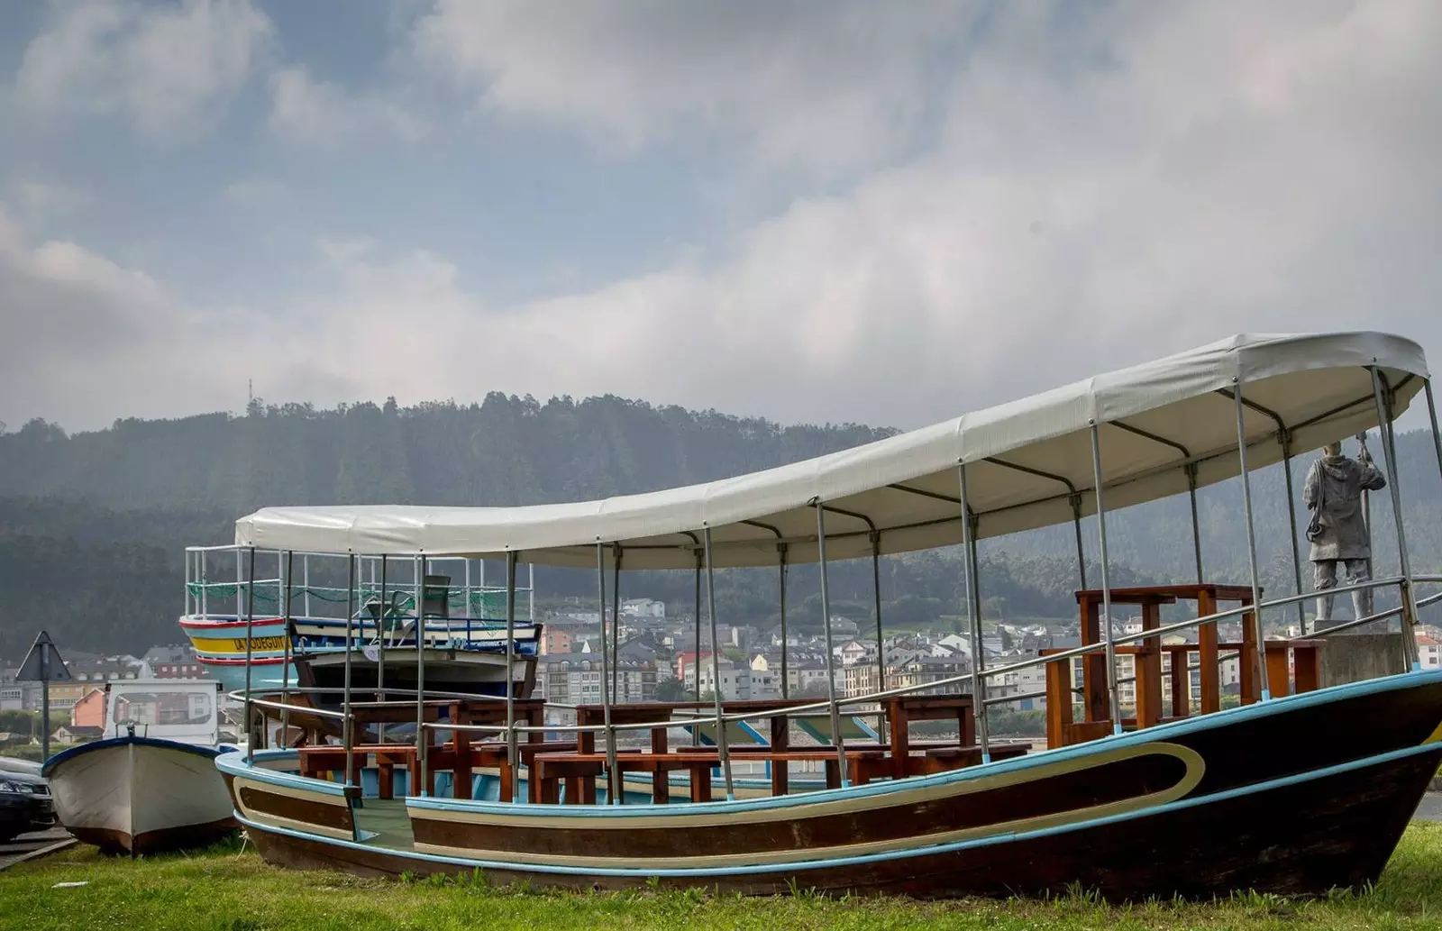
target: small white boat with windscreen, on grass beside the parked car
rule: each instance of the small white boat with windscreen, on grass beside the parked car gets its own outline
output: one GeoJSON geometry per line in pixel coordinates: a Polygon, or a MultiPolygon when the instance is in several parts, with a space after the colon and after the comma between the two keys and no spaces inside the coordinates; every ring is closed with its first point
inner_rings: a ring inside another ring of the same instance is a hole
{"type": "Polygon", "coordinates": [[[50,757],[61,824],[110,853],[213,843],[238,824],[215,758],[218,682],[140,679],[105,686],[105,734],[50,757]]]}

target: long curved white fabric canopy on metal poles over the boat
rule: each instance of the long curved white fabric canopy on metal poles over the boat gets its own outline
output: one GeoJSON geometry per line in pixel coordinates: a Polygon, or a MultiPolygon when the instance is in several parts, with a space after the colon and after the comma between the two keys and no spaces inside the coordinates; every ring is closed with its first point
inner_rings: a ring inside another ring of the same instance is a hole
{"type": "Polygon", "coordinates": [[[1371,372],[1400,415],[1428,378],[1422,349],[1383,333],[1234,336],[1156,362],[805,463],[647,494],[528,507],[265,507],[235,525],[262,549],[365,555],[502,556],[596,565],[596,545],[624,568],[692,568],[702,527],[717,566],[816,559],[816,502],[826,556],[962,542],[957,464],[978,538],[1096,512],[1092,424],[1100,425],[1107,510],[1239,474],[1231,392],[1246,402],[1247,466],[1377,427],[1371,372]],[[619,549],[617,549],[619,548],[619,549]]]}

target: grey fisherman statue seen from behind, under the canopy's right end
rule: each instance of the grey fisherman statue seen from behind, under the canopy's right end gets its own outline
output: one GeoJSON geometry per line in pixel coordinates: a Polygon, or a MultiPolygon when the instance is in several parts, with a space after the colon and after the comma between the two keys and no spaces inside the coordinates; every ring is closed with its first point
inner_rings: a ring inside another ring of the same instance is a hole
{"type": "MultiPolygon", "coordinates": [[[[1371,463],[1366,435],[1358,435],[1357,458],[1343,455],[1341,442],[1322,447],[1322,458],[1312,464],[1302,487],[1302,500],[1312,512],[1306,539],[1312,543],[1312,581],[1318,592],[1317,620],[1332,620],[1331,592],[1337,587],[1337,564],[1345,566],[1348,585],[1368,581],[1371,572],[1371,533],[1363,514],[1363,491],[1387,487],[1387,478],[1371,463]]],[[[1353,589],[1357,620],[1371,614],[1371,589],[1353,589]]]]}

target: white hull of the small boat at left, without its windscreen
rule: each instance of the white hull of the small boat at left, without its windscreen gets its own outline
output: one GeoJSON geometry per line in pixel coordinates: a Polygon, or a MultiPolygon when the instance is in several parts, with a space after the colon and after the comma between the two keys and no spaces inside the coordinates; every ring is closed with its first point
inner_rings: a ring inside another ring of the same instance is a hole
{"type": "Polygon", "coordinates": [[[206,846],[235,832],[219,749],[121,736],[52,757],[45,775],[61,824],[108,853],[206,846]]]}

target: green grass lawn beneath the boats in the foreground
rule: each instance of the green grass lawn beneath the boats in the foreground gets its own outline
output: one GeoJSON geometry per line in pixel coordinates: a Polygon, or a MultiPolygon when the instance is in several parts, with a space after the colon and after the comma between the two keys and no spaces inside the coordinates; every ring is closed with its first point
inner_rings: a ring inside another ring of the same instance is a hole
{"type": "Polygon", "coordinates": [[[483,879],[444,885],[273,869],[239,845],[144,860],[94,847],[0,873],[0,930],[143,928],[369,931],[414,928],[1436,928],[1442,924],[1442,824],[1413,823],[1377,888],[1291,901],[1244,895],[1211,904],[714,898],[701,894],[526,894],[483,879]],[[85,881],[81,888],[53,888],[85,881]]]}

